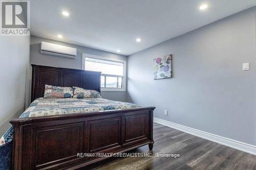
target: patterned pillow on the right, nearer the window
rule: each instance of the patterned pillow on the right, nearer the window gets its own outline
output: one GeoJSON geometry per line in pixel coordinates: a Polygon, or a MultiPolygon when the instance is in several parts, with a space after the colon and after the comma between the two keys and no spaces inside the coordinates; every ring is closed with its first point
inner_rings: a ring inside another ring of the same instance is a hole
{"type": "Polygon", "coordinates": [[[74,88],[73,98],[101,98],[101,94],[96,90],[87,90],[80,87],[74,88]]]}

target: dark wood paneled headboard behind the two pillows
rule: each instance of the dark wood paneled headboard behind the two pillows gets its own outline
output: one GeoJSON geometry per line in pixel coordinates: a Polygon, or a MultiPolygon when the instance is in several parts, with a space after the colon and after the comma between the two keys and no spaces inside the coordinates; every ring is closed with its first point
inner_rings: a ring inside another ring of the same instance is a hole
{"type": "Polygon", "coordinates": [[[44,96],[45,85],[82,87],[100,92],[101,72],[32,64],[31,102],[44,96]]]}

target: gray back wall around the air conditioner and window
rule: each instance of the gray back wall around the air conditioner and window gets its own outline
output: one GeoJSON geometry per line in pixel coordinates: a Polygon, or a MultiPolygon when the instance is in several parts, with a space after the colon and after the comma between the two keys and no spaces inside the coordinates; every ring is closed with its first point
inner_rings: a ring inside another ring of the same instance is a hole
{"type": "MultiPolygon", "coordinates": [[[[31,43],[30,43],[30,63],[31,64],[82,69],[82,53],[108,57],[108,58],[115,58],[115,59],[120,59],[125,61],[127,60],[127,57],[123,55],[104,52],[104,51],[96,50],[93,48],[68,44],[60,41],[49,40],[49,39],[40,38],[36,36],[31,36],[31,43]],[[77,48],[77,58],[69,59],[69,58],[41,54],[40,53],[41,41],[75,47],[77,48]]],[[[110,99],[110,100],[116,100],[116,101],[122,101],[122,102],[126,101],[126,91],[117,91],[117,92],[102,91],[101,93],[104,99],[110,99]]]]}

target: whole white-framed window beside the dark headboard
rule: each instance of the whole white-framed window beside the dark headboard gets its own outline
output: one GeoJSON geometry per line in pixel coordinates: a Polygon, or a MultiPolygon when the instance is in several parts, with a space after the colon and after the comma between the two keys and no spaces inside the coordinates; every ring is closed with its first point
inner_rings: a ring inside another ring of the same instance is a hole
{"type": "Polygon", "coordinates": [[[125,91],[126,61],[83,54],[83,69],[101,71],[102,91],[125,91]]]}

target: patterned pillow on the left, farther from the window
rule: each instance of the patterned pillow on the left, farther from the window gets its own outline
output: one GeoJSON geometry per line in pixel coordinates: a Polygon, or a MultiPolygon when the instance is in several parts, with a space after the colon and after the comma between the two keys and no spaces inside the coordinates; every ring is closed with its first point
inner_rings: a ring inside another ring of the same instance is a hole
{"type": "Polygon", "coordinates": [[[44,98],[72,98],[74,89],[72,87],[45,86],[44,98]]]}

